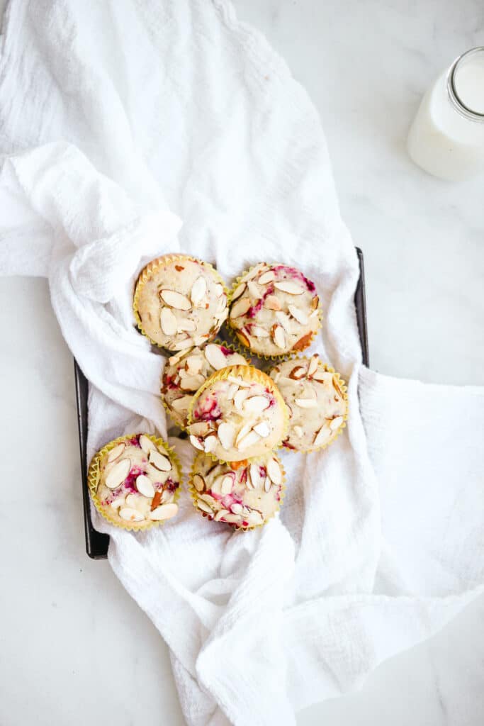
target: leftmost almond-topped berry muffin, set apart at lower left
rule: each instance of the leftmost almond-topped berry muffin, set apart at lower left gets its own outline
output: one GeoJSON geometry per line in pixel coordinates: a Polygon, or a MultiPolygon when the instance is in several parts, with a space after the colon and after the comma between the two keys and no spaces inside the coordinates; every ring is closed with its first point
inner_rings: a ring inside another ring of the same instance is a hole
{"type": "Polygon", "coordinates": [[[163,439],[136,433],[94,456],[89,489],[97,510],[125,529],[147,529],[178,512],[181,468],[163,439]]]}

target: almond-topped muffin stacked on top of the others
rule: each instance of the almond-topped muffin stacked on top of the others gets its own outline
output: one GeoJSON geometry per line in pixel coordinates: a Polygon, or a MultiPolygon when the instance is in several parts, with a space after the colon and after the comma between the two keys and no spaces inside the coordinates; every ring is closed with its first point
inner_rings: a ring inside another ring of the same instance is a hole
{"type": "Polygon", "coordinates": [[[287,409],[268,375],[235,365],[213,373],[195,393],[188,431],[196,449],[221,461],[243,461],[281,445],[287,409]]]}

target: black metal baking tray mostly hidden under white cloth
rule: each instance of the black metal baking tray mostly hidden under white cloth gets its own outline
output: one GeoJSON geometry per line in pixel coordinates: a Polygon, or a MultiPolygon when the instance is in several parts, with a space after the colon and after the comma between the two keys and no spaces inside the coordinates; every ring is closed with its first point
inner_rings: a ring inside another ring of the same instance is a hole
{"type": "MultiPolygon", "coordinates": [[[[368,335],[366,330],[366,300],[365,300],[365,276],[363,265],[363,253],[357,247],[356,253],[360,264],[360,278],[356,286],[355,308],[356,319],[358,321],[358,332],[361,340],[361,352],[363,362],[367,366],[369,364],[368,354],[368,335]]],[[[86,376],[81,371],[78,362],[74,360],[75,375],[75,396],[78,404],[78,426],[79,426],[79,449],[81,451],[81,476],[82,476],[82,497],[84,507],[84,533],[86,535],[86,552],[93,560],[104,560],[107,558],[107,547],[109,547],[110,538],[107,534],[98,532],[92,526],[91,506],[89,501],[89,488],[87,484],[87,396],[88,382],[86,376]]]]}

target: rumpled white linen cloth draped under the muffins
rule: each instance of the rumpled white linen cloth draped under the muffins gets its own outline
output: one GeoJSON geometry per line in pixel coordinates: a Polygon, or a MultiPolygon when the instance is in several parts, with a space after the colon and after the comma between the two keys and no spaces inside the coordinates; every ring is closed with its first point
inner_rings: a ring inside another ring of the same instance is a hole
{"type": "MultiPolygon", "coordinates": [[[[483,390],[361,367],[358,265],[319,118],[228,2],[13,1],[0,124],[0,272],[49,278],[91,383],[89,454],[167,433],[163,356],[131,314],[150,258],[182,250],[228,281],[277,259],[321,293],[313,349],[348,380],[350,418],[327,451],[283,454],[280,518],[231,534],[186,492],[147,534],[97,518],[171,648],[189,724],[292,724],[482,591],[483,390]]],[[[186,465],[189,445],[171,443],[186,465]]]]}

